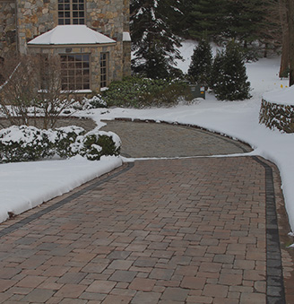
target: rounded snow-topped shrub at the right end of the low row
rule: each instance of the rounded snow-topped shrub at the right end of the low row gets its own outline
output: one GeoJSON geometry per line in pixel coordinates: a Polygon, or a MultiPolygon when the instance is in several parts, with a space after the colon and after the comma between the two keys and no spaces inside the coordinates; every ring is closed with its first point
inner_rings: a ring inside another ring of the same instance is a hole
{"type": "Polygon", "coordinates": [[[78,146],[76,150],[88,160],[98,161],[102,155],[119,155],[120,139],[115,133],[94,129],[78,137],[73,146],[78,146]]]}

